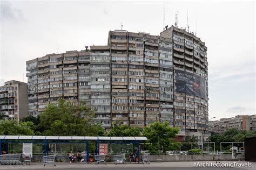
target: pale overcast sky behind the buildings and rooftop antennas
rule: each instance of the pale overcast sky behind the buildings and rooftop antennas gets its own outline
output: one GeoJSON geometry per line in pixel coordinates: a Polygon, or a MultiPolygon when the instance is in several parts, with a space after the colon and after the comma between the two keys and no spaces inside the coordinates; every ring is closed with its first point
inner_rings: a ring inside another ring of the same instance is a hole
{"type": "Polygon", "coordinates": [[[209,118],[255,114],[254,2],[1,1],[0,86],[27,82],[26,60],[57,53],[57,46],[64,53],[107,45],[121,23],[159,35],[164,7],[169,26],[178,11],[178,26],[187,27],[188,11],[190,30],[208,47],[209,118]]]}

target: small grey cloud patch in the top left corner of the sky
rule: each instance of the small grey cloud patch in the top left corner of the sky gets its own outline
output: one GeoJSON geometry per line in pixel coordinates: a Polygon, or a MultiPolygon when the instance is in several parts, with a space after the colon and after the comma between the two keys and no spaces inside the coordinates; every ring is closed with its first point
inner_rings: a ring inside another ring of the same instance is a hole
{"type": "Polygon", "coordinates": [[[23,20],[23,12],[21,9],[17,9],[8,1],[3,1],[0,4],[1,9],[1,21],[8,20],[23,20]]]}

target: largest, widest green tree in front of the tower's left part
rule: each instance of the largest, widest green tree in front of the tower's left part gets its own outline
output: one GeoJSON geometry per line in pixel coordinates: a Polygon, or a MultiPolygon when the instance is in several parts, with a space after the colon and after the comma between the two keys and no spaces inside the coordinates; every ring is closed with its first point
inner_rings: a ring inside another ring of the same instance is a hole
{"type": "Polygon", "coordinates": [[[40,115],[39,127],[51,136],[97,136],[104,129],[91,123],[93,117],[95,110],[86,107],[85,102],[76,105],[61,99],[58,105],[50,103],[40,115]]]}

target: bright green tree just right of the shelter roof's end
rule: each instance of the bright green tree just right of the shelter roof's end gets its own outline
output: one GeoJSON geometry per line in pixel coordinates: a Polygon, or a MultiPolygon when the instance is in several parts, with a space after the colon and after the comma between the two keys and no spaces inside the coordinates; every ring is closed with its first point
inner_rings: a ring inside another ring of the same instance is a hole
{"type": "Polygon", "coordinates": [[[143,135],[147,137],[151,152],[163,152],[169,150],[177,150],[179,143],[176,143],[171,138],[176,138],[176,134],[179,132],[178,128],[171,128],[169,122],[166,121],[163,124],[155,122],[149,126],[146,126],[143,130],[143,135]]]}

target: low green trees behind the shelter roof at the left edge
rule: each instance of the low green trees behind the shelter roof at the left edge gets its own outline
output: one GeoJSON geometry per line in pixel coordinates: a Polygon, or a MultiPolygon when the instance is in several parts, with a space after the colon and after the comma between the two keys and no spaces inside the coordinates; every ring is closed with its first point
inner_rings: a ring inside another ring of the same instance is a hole
{"type": "Polygon", "coordinates": [[[30,125],[32,122],[3,121],[0,120],[0,135],[34,135],[30,125]]]}

